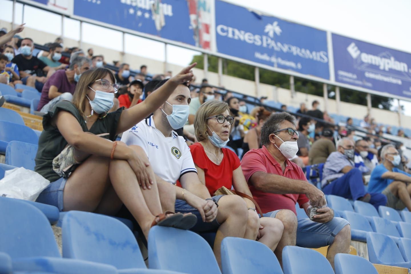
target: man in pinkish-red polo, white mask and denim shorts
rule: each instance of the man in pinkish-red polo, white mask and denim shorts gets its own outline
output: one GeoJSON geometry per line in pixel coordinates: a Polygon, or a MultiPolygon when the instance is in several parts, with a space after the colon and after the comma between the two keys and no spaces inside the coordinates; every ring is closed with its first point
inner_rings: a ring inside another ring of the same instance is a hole
{"type": "Polygon", "coordinates": [[[286,112],[272,114],[261,129],[263,147],[244,155],[242,171],[263,215],[280,219],[284,224],[275,250],[280,263],[284,246],[329,245],[327,259],[334,267],[335,254],[349,252],[351,230],[346,220],[334,217],[332,209],[324,207],[324,193],[307,182],[301,168],[289,161],[298,151],[298,136],[294,116],[286,112]],[[296,203],[305,212],[310,204],[321,208],[311,221],[297,218],[296,203]]]}

